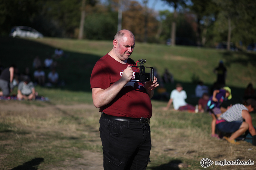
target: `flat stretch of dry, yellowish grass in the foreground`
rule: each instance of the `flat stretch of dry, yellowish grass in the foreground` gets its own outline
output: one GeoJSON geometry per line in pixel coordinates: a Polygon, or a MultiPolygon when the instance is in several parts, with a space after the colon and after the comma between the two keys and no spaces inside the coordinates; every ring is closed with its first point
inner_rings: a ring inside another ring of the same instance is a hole
{"type": "MultiPolygon", "coordinates": [[[[163,104],[153,103],[148,170],[204,169],[200,165],[204,157],[212,161],[256,161],[255,146],[243,141],[242,145],[232,145],[211,138],[208,114],[164,112],[159,107],[163,104]],[[200,123],[208,121],[209,124],[200,123]],[[181,163],[187,168],[179,168],[177,165],[181,163]]],[[[90,104],[38,106],[0,101],[0,169],[103,169],[99,116],[98,109],[90,104]],[[28,162],[36,158],[43,161],[30,167],[28,162]]],[[[255,166],[212,165],[208,169],[255,169],[255,166]]]]}

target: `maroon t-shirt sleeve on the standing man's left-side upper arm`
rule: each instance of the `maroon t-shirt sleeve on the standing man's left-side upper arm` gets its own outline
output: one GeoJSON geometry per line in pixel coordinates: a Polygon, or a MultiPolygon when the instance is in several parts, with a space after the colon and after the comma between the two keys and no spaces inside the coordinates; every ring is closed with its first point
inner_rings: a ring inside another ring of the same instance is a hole
{"type": "Polygon", "coordinates": [[[106,89],[110,86],[110,77],[106,68],[100,64],[95,64],[91,74],[91,89],[101,88],[106,89]]]}

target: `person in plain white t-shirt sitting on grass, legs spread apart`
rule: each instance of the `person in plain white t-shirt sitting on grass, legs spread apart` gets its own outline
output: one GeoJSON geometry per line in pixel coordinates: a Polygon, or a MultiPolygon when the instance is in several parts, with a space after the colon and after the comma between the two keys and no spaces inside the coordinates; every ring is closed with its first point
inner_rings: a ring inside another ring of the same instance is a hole
{"type": "Polygon", "coordinates": [[[186,103],[186,98],[186,91],[183,90],[183,87],[180,83],[177,83],[176,89],[171,92],[170,100],[168,101],[167,106],[163,108],[163,110],[169,109],[173,103],[174,110],[188,110],[189,112],[195,112],[195,106],[186,103]]]}

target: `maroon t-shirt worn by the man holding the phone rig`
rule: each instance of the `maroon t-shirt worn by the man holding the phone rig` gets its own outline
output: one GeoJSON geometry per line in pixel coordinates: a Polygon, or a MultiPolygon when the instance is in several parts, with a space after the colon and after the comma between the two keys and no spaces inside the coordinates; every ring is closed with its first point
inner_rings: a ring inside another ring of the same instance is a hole
{"type": "MultiPolygon", "coordinates": [[[[135,66],[135,62],[130,58],[126,64],[122,64],[106,54],[96,62],[92,70],[91,89],[110,87],[121,78],[123,70],[129,64],[135,66]]],[[[133,71],[138,72],[138,68],[133,67],[133,71]]],[[[100,107],[99,111],[118,117],[151,118],[152,104],[144,83],[128,82],[114,100],[100,107]]]]}

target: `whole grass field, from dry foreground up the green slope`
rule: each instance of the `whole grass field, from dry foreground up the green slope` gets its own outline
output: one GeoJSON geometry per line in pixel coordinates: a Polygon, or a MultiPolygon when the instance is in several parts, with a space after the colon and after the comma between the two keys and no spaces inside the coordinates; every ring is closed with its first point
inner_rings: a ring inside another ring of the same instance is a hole
{"type": "MultiPolygon", "coordinates": [[[[111,41],[70,40],[58,38],[13,39],[1,37],[1,64],[16,64],[23,72],[36,55],[43,61],[62,48],[67,58],[57,60],[57,72],[64,87],[36,86],[39,95],[50,101],[0,100],[0,170],[4,169],[103,169],[101,140],[98,133],[99,112],[92,104],[90,74],[95,62],[112,49],[111,41]]],[[[249,82],[256,84],[256,54],[227,52],[186,46],[136,43],[134,60],[147,59],[160,74],[165,68],[173,73],[175,83],[186,90],[187,102],[196,104],[193,77],[208,87],[216,80],[214,67],[220,60],[227,67],[226,84],[233,99],[224,103],[241,103],[249,82]]],[[[46,74],[48,70],[45,70],[46,74]]],[[[175,84],[165,84],[170,92],[175,84]]],[[[17,88],[12,94],[17,93],[17,88]]],[[[165,100],[152,100],[152,150],[148,170],[204,169],[200,160],[255,160],[256,147],[242,142],[231,145],[210,137],[211,117],[163,111],[165,100]],[[178,167],[179,163],[188,165],[178,167]]],[[[252,114],[256,125],[255,114],[252,114]]],[[[210,166],[209,169],[255,169],[255,166],[210,166]]]]}

